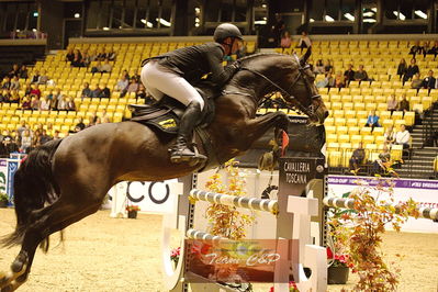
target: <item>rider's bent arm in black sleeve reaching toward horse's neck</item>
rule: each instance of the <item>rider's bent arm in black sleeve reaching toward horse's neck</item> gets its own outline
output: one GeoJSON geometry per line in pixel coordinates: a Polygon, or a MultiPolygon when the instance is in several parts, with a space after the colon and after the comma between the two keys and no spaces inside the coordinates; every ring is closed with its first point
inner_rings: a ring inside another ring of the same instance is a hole
{"type": "Polygon", "coordinates": [[[211,81],[216,83],[218,87],[225,85],[229,78],[239,69],[237,64],[232,64],[226,67],[222,66],[224,53],[221,47],[214,47],[211,54],[207,54],[207,61],[210,70],[212,72],[211,81]]]}

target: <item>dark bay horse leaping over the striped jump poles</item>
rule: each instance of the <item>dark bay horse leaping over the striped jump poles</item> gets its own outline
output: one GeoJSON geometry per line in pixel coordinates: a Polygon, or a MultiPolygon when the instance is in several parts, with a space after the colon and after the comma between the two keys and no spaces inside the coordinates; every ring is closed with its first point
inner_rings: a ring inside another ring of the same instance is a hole
{"type": "MultiPolygon", "coordinates": [[[[328,115],[314,76],[302,59],[258,54],[240,59],[243,69],[215,100],[209,125],[218,162],[248,150],[272,126],[287,131],[283,112],[256,117],[269,93],[280,91],[289,106],[306,113],[313,124],[328,115]]],[[[189,175],[200,166],[175,165],[168,148],[173,138],[135,122],[100,124],[32,151],[14,178],[16,228],[3,239],[21,244],[11,271],[0,273],[1,291],[13,291],[27,279],[36,247],[48,236],[97,212],[112,186],[120,181],[161,181],[189,175]]]]}

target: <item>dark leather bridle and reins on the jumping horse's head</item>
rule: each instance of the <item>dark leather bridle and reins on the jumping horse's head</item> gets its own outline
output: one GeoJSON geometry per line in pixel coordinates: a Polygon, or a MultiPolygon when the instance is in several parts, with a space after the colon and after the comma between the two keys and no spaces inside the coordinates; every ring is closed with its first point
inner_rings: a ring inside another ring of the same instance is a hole
{"type": "MultiPolygon", "coordinates": [[[[297,76],[295,77],[295,79],[292,81],[292,83],[291,83],[291,86],[288,88],[288,90],[284,90],[282,87],[280,87],[279,85],[277,85],[276,82],[273,82],[271,79],[269,79],[267,76],[262,75],[262,74],[259,72],[259,71],[249,69],[249,68],[247,68],[247,67],[242,67],[240,70],[249,71],[249,72],[251,72],[251,74],[254,74],[254,75],[256,75],[256,76],[258,76],[258,77],[265,79],[265,80],[268,81],[271,86],[273,86],[273,87],[281,93],[281,96],[282,96],[283,98],[289,98],[289,99],[291,99],[291,100],[293,101],[294,104],[293,104],[293,105],[289,105],[289,104],[284,103],[283,105],[284,105],[287,109],[297,111],[299,113],[304,113],[304,114],[306,114],[308,117],[315,117],[315,113],[316,113],[317,109],[319,108],[319,104],[318,104],[318,105],[315,105],[313,102],[311,102],[307,106],[304,106],[303,103],[301,103],[294,96],[292,96],[291,93],[289,93],[290,90],[299,82],[300,79],[303,79],[303,80],[304,80],[304,85],[305,85],[305,87],[306,87],[306,89],[307,89],[307,91],[308,91],[308,93],[310,93],[308,96],[311,96],[311,93],[312,93],[310,81],[308,81],[307,78],[305,78],[305,76],[304,76],[304,75],[305,75],[304,71],[307,70],[311,66],[310,66],[308,64],[305,64],[304,66],[302,66],[301,63],[300,63],[299,57],[297,57],[296,55],[294,55],[294,57],[295,57],[296,63],[297,63],[297,65],[299,65],[299,74],[297,74],[297,76]]],[[[271,98],[271,97],[267,97],[267,98],[262,99],[262,100],[259,102],[258,105],[265,103],[265,102],[266,102],[267,100],[269,100],[270,98],[271,98]]],[[[311,101],[313,101],[314,99],[317,99],[317,98],[321,98],[321,96],[319,96],[319,94],[312,96],[312,97],[311,97],[311,101]]]]}

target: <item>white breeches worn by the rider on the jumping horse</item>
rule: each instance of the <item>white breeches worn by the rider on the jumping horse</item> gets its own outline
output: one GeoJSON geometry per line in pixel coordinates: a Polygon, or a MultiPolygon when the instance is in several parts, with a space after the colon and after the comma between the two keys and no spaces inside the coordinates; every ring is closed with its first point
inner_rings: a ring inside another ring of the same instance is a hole
{"type": "Polygon", "coordinates": [[[156,100],[160,100],[166,94],[184,105],[196,101],[201,110],[204,109],[201,94],[184,78],[159,65],[158,60],[149,60],[143,67],[141,77],[146,90],[156,100]]]}

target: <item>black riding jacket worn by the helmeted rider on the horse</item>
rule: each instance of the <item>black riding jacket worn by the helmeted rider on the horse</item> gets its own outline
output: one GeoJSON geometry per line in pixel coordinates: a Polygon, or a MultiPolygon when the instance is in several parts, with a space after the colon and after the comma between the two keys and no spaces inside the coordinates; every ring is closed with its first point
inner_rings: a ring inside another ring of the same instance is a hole
{"type": "Polygon", "coordinates": [[[211,74],[210,80],[222,87],[238,70],[237,64],[222,66],[224,48],[217,43],[178,48],[153,57],[173,72],[181,75],[190,83],[198,82],[202,76],[211,74]]]}

